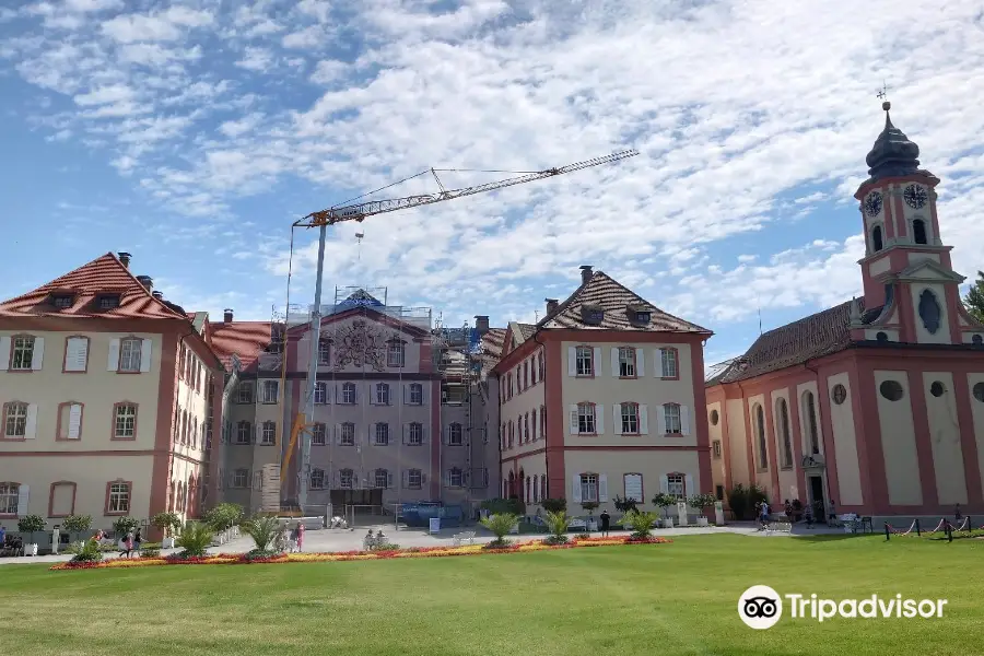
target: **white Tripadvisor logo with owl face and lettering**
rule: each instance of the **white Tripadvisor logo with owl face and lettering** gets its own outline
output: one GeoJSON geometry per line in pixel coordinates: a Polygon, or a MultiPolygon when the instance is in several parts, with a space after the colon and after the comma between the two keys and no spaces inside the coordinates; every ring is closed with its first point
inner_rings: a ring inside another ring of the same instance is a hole
{"type": "Polygon", "coordinates": [[[753,585],[738,598],[738,617],[751,629],[771,629],[784,610],[794,620],[822,622],[832,618],[941,618],[947,599],[903,599],[902,595],[864,599],[823,599],[817,595],[780,595],[768,585],[753,585]]]}

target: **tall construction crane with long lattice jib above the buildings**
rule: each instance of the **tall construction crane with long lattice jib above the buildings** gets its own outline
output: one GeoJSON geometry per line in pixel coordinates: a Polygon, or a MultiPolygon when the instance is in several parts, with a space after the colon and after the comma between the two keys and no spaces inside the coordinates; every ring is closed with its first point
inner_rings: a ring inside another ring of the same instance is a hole
{"type": "MultiPolygon", "coordinates": [[[[514,185],[523,185],[526,183],[532,183],[535,180],[553,177],[555,175],[563,175],[565,173],[573,173],[575,171],[581,171],[583,168],[590,168],[591,166],[599,166],[601,164],[610,164],[612,162],[618,162],[620,160],[625,160],[626,157],[633,157],[637,155],[639,152],[635,150],[624,150],[613,152],[610,155],[604,155],[601,157],[594,157],[591,160],[585,160],[583,162],[575,162],[574,164],[567,164],[566,166],[560,166],[555,168],[547,168],[544,171],[532,171],[526,172],[523,175],[517,177],[506,178],[502,180],[497,180],[494,183],[485,183],[483,185],[475,185],[471,187],[462,187],[460,189],[445,189],[444,185],[441,183],[441,178],[437,177],[438,171],[455,171],[455,169],[434,169],[431,168],[429,171],[424,171],[417,176],[424,175],[426,173],[433,174],[434,178],[437,180],[437,186],[441,188],[441,191],[437,194],[425,194],[421,196],[407,196],[403,198],[391,198],[386,200],[370,200],[365,202],[359,202],[355,204],[347,204],[342,207],[332,207],[327,210],[321,210],[319,212],[313,212],[307,216],[295,221],[294,227],[318,227],[320,229],[320,233],[318,235],[318,265],[317,265],[317,277],[315,278],[315,302],[314,308],[311,313],[311,348],[309,348],[309,362],[307,366],[307,389],[305,390],[305,403],[304,411],[297,412],[297,415],[294,419],[293,426],[291,427],[291,442],[288,446],[286,454],[284,455],[283,462],[280,467],[280,480],[281,485],[285,480],[285,472],[288,471],[288,467],[291,461],[291,454],[293,454],[295,445],[297,444],[297,438],[301,438],[301,468],[298,471],[298,489],[297,489],[297,504],[301,506],[301,511],[303,512],[304,506],[307,505],[307,490],[311,483],[309,479],[309,469],[311,469],[311,427],[314,425],[314,408],[315,408],[315,384],[317,383],[317,373],[318,373],[318,348],[317,344],[321,338],[321,276],[325,271],[325,241],[327,237],[327,229],[329,225],[335,225],[336,223],[341,223],[342,221],[358,221],[362,222],[368,216],[373,216],[375,214],[385,214],[386,212],[395,212],[397,210],[406,210],[410,208],[418,208],[425,204],[433,204],[435,202],[443,202],[445,200],[454,200],[456,198],[464,198],[465,196],[473,196],[476,194],[483,194],[485,191],[494,191],[496,189],[502,189],[504,187],[512,187],[514,185]]],[[[499,172],[502,173],[502,172],[499,172]]],[[[409,178],[408,178],[409,179],[409,178]]],[[[391,185],[390,185],[391,186],[391,185]]]]}

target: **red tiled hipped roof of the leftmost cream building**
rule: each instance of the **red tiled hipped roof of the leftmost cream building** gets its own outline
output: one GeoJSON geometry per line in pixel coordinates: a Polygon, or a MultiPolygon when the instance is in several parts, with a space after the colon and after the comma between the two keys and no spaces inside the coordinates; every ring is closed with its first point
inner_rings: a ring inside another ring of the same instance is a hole
{"type": "Polygon", "coordinates": [[[154,298],[112,253],[36,290],[0,303],[0,316],[188,320],[177,305],[154,298]],[[51,294],[57,292],[73,296],[71,307],[55,307],[51,294]],[[97,298],[101,294],[119,294],[119,306],[99,309],[97,298]]]}

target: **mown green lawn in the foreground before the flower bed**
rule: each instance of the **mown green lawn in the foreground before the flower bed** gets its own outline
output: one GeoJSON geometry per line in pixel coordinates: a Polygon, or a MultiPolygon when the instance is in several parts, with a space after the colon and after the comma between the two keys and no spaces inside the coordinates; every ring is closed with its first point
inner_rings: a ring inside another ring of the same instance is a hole
{"type": "Polygon", "coordinates": [[[984,540],[692,536],[433,560],[49,572],[0,567],[16,654],[386,656],[980,653],[984,540]],[[941,620],[738,618],[753,584],[948,598],[941,620]]]}

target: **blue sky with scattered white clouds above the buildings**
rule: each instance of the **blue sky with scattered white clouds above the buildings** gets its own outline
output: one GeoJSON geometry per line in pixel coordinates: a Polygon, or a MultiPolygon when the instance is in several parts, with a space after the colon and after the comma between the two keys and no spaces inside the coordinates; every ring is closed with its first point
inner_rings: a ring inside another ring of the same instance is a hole
{"type": "MultiPolygon", "coordinates": [[[[0,8],[10,297],[109,250],[213,316],[283,307],[290,224],[427,167],[641,155],[332,230],[325,283],[450,325],[542,316],[579,265],[715,330],[708,362],[860,292],[852,198],[897,126],[984,268],[973,1],[47,0],[0,8]],[[919,20],[912,20],[918,15],[919,20]],[[10,230],[13,229],[13,230],[10,230]],[[361,248],[354,233],[365,233],[361,248]]],[[[449,175],[464,186],[489,174],[449,175]]],[[[396,195],[433,191],[421,178],[396,195]]],[[[309,302],[313,232],[291,298],[309,302]]]]}

